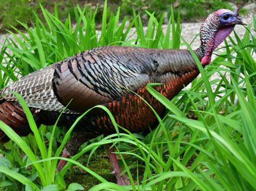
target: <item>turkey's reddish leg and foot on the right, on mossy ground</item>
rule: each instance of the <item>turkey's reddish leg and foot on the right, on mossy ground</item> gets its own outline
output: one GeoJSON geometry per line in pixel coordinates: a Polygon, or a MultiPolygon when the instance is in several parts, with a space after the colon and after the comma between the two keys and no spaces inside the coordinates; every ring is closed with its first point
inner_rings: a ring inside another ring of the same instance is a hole
{"type": "Polygon", "coordinates": [[[120,171],[118,161],[117,161],[117,155],[113,153],[113,152],[115,152],[114,147],[110,148],[111,147],[110,144],[106,144],[104,147],[105,147],[107,156],[109,157],[110,163],[113,168],[112,174],[115,174],[115,177],[117,179],[117,184],[118,185],[130,185],[131,182],[130,182],[128,175],[123,174],[123,176],[121,176],[121,171],[120,171]]]}

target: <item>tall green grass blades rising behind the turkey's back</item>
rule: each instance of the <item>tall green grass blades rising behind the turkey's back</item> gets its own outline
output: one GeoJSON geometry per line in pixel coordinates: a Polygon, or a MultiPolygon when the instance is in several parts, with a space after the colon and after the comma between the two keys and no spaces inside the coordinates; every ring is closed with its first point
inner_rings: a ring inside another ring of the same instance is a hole
{"type": "MultiPolygon", "coordinates": [[[[15,57],[15,63],[20,63],[19,69],[22,75],[32,71],[44,68],[51,63],[64,60],[67,57],[75,55],[83,50],[92,49],[101,45],[133,45],[140,47],[161,47],[161,48],[179,48],[181,33],[180,17],[175,27],[175,18],[171,14],[168,23],[167,33],[163,34],[163,15],[158,19],[147,12],[150,16],[146,34],[141,22],[140,15],[134,12],[134,19],[128,20],[127,17],[120,21],[120,9],[116,14],[110,14],[107,19],[107,1],[102,15],[101,30],[96,29],[95,10],[85,7],[75,7],[75,24],[70,17],[64,22],[59,20],[57,7],[54,14],[41,7],[45,23],[35,15],[36,23],[30,28],[25,23],[20,23],[26,30],[26,33],[14,28],[15,32],[9,31],[10,38],[7,40],[7,48],[10,49],[15,57]],[[173,23],[173,25],[172,25],[173,23]],[[136,39],[130,37],[132,26],[136,26],[136,39]],[[170,28],[175,31],[173,40],[170,40],[170,28]],[[155,34],[155,29],[157,32],[155,34]],[[177,33],[176,33],[177,32],[177,33]],[[129,36],[128,36],[129,35],[129,36]]],[[[173,12],[171,12],[173,13],[173,12]]]]}

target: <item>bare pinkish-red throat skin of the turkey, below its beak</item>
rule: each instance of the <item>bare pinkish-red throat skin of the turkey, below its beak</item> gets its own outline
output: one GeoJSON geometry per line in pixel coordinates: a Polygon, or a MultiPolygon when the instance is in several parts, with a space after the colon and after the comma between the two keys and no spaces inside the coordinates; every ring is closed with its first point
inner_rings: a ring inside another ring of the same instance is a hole
{"type": "Polygon", "coordinates": [[[210,64],[213,50],[215,50],[218,47],[218,45],[220,45],[221,42],[223,42],[226,39],[226,37],[228,37],[228,35],[233,31],[233,29],[234,25],[226,26],[225,28],[220,28],[218,29],[215,36],[213,36],[212,39],[209,39],[204,57],[201,60],[202,66],[210,64]]]}

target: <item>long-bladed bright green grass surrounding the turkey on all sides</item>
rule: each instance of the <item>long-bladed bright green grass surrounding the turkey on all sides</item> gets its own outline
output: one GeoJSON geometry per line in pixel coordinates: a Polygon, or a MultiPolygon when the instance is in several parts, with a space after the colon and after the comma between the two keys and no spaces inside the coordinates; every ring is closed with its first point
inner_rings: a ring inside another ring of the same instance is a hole
{"type": "MultiPolygon", "coordinates": [[[[14,28],[15,33],[9,31],[10,37],[0,54],[1,87],[20,76],[99,45],[162,49],[179,49],[181,44],[188,45],[186,41],[181,41],[181,21],[180,17],[175,17],[174,10],[170,14],[166,33],[162,31],[163,15],[157,17],[146,12],[149,21],[144,31],[141,14],[136,10],[133,11],[133,18],[127,17],[120,23],[122,10],[111,13],[107,2],[101,19],[101,33],[98,33],[97,11],[97,8],[76,7],[74,13],[78,25],[73,28],[70,17],[60,20],[57,8],[51,14],[41,7],[46,23],[36,16],[32,28],[22,23],[28,36],[20,29],[14,28]],[[125,24],[127,21],[130,22],[128,26],[125,24]],[[136,28],[135,38],[128,35],[133,26],[136,28]],[[171,40],[170,31],[174,32],[171,40]]],[[[255,29],[254,18],[254,23],[245,29],[242,39],[229,37],[231,44],[226,42],[223,53],[205,69],[196,59],[202,77],[195,79],[191,88],[181,91],[171,101],[153,88],[157,84],[147,85],[147,90],[167,107],[163,119],[157,116],[159,126],[154,131],[147,135],[132,134],[118,127],[113,119],[117,133],[86,142],[78,154],[65,159],[68,165],[57,174],[55,169],[60,152],[82,116],[67,132],[57,125],[43,125],[38,129],[27,105],[17,95],[34,136],[21,138],[0,122],[1,130],[12,139],[5,145],[10,151],[1,150],[4,157],[0,158],[0,188],[79,190],[87,184],[80,182],[80,179],[94,177],[97,182],[88,188],[90,190],[256,190],[256,70],[252,57],[256,53],[252,33],[255,29]],[[212,80],[211,76],[215,73],[220,77],[212,80]],[[196,115],[197,119],[188,117],[189,114],[196,115]],[[124,133],[120,133],[119,129],[124,133]],[[92,170],[90,165],[102,152],[104,144],[116,147],[123,173],[128,174],[131,185],[121,187],[107,181],[105,176],[99,174],[100,171],[92,170]],[[82,158],[85,154],[86,157],[82,158]],[[79,176],[72,168],[74,164],[86,175],[79,176]],[[76,179],[68,180],[72,176],[76,179]]],[[[105,107],[101,109],[112,116],[105,107]]]]}

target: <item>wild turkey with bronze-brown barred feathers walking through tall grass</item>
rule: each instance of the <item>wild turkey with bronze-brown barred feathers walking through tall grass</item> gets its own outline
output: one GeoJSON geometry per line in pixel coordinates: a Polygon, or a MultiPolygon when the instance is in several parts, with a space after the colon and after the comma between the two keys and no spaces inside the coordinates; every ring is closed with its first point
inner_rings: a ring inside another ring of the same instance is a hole
{"type": "MultiPolygon", "coordinates": [[[[220,9],[206,18],[200,28],[201,44],[194,50],[202,66],[210,63],[212,52],[233,31],[244,25],[238,10],[220,9]]],[[[28,74],[1,90],[0,119],[22,136],[30,133],[27,119],[17,98],[8,92],[18,92],[30,107],[36,122],[51,125],[70,100],[60,125],[70,125],[89,108],[102,104],[109,108],[119,125],[136,133],[156,122],[154,113],[139,96],[146,99],[159,115],[165,108],[146,90],[148,82],[163,85],[156,90],[173,98],[197,75],[199,69],[189,50],[144,49],[125,46],[105,46],[78,53],[44,69],[28,74]]],[[[103,111],[92,111],[84,117],[62,153],[70,157],[80,145],[98,134],[114,133],[110,118],[103,111]]],[[[0,131],[1,142],[7,141],[0,131]]],[[[120,177],[117,159],[107,148],[118,184],[120,177]]],[[[59,169],[65,165],[60,162],[59,169]]]]}

